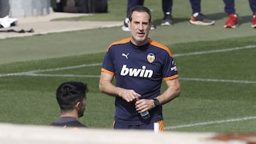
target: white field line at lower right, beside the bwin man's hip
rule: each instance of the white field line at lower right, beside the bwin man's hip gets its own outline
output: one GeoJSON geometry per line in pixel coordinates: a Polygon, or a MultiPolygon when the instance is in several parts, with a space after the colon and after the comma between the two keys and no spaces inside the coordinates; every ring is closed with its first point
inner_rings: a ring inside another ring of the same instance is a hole
{"type": "Polygon", "coordinates": [[[216,123],[230,123],[230,122],[237,122],[237,121],[247,121],[256,119],[256,116],[246,116],[244,118],[231,118],[226,120],[220,120],[220,121],[208,121],[208,122],[201,122],[201,123],[192,123],[192,124],[186,124],[186,125],[180,125],[180,126],[167,126],[164,129],[165,130],[174,130],[178,128],[190,128],[193,126],[205,126],[210,124],[216,124],[216,123]]]}

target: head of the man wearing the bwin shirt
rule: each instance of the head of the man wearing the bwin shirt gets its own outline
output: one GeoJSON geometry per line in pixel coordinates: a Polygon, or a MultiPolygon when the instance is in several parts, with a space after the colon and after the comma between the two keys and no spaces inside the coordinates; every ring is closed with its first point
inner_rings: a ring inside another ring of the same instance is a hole
{"type": "Polygon", "coordinates": [[[128,22],[128,26],[131,29],[131,41],[134,45],[140,46],[148,43],[148,35],[151,27],[148,13],[134,11],[132,13],[132,21],[128,22]]]}

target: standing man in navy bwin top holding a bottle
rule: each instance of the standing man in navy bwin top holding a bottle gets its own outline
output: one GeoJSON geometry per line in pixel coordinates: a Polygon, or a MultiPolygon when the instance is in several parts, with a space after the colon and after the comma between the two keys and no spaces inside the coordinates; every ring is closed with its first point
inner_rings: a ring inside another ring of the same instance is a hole
{"type": "Polygon", "coordinates": [[[148,37],[151,28],[148,8],[130,9],[128,26],[130,38],[114,42],[107,49],[100,92],[115,97],[114,129],[163,131],[162,105],[181,92],[176,63],[169,48],[148,37]],[[167,89],[160,94],[162,79],[167,89]],[[149,115],[142,118],[146,111],[149,115]],[[154,123],[158,129],[154,129],[154,123]]]}

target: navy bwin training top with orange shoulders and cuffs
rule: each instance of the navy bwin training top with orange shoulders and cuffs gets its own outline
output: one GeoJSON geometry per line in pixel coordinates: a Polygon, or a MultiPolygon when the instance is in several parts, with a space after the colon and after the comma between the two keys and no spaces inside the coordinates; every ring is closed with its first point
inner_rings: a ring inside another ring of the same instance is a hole
{"type": "MultiPolygon", "coordinates": [[[[103,60],[102,72],[111,74],[117,87],[134,89],[142,95],[141,99],[159,96],[162,79],[178,78],[176,63],[169,48],[151,39],[142,46],[134,45],[130,38],[112,43],[103,60]]],[[[140,125],[163,119],[161,106],[151,109],[149,113],[150,118],[144,120],[136,111],[134,102],[115,98],[114,121],[140,125]]]]}

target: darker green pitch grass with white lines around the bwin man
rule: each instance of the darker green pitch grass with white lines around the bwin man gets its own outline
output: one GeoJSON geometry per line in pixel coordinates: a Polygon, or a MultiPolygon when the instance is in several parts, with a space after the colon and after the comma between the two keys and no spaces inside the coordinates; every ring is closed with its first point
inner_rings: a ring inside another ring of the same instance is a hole
{"type": "MultiPolygon", "coordinates": [[[[240,47],[248,44],[247,38],[239,38],[234,41],[239,41],[240,47]]],[[[223,43],[223,40],[181,43],[176,45],[173,52],[174,54],[181,54],[208,50],[225,50],[235,46],[237,45],[227,45],[223,43]],[[190,45],[190,47],[185,47],[184,45],[190,45]],[[199,45],[205,45],[205,47],[199,45]]],[[[0,74],[100,63],[104,54],[105,52],[100,52],[75,57],[15,62],[1,65],[0,74]]],[[[254,54],[255,48],[250,48],[204,55],[178,56],[176,57],[176,62],[181,78],[230,79],[256,82],[256,67],[253,67],[255,64],[254,54]]],[[[97,65],[68,70],[38,72],[38,74],[58,74],[59,77],[33,77],[25,75],[0,77],[0,121],[4,123],[48,125],[59,116],[58,104],[55,101],[55,89],[58,87],[58,84],[69,80],[76,80],[87,82],[90,89],[85,116],[81,118],[82,123],[86,123],[91,128],[112,128],[114,98],[99,92],[99,77],[63,76],[63,74],[99,76],[100,68],[100,65],[97,65]]],[[[254,109],[256,106],[254,99],[256,84],[194,82],[181,79],[181,86],[181,97],[164,106],[166,127],[255,116],[254,109]]],[[[163,89],[165,87],[163,84],[163,89]]],[[[256,131],[255,123],[250,123],[250,121],[213,123],[206,126],[176,128],[174,130],[256,131]],[[240,123],[242,123],[242,126],[240,123]]]]}

